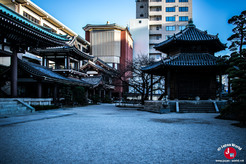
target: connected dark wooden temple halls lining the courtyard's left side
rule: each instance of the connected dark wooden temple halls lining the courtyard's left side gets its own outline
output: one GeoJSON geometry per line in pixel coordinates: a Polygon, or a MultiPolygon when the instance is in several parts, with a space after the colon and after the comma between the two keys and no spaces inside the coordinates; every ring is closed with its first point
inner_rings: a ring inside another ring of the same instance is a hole
{"type": "Polygon", "coordinates": [[[53,98],[55,102],[62,98],[63,86],[82,86],[87,96],[97,90],[110,95],[115,71],[100,59],[93,61],[89,46],[83,38],[56,34],[0,3],[0,60],[10,63],[0,65],[0,97],[53,98]],[[77,47],[78,41],[85,42],[87,49],[77,47]],[[41,64],[22,60],[20,54],[26,52],[39,57],[41,64]],[[91,80],[86,63],[96,65],[96,70],[101,68],[99,78],[91,80]],[[9,94],[3,93],[8,86],[9,94]]]}

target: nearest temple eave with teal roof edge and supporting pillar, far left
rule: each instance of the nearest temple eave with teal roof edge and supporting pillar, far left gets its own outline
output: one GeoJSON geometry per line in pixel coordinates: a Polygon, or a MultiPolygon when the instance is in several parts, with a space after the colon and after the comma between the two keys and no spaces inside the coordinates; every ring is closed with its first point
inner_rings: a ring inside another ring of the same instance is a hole
{"type": "MultiPolygon", "coordinates": [[[[11,75],[8,76],[11,83],[11,97],[18,97],[17,54],[34,48],[65,46],[67,41],[69,40],[65,36],[43,29],[0,3],[0,56],[11,58],[11,75]]],[[[6,71],[1,72],[2,75],[4,72],[6,71]]]]}

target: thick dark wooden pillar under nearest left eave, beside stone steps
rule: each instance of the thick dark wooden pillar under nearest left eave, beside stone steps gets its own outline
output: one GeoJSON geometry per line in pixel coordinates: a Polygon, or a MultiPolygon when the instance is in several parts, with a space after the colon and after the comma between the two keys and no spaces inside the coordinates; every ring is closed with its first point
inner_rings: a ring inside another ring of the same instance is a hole
{"type": "Polygon", "coordinates": [[[11,56],[11,97],[17,97],[17,78],[18,78],[18,65],[17,65],[17,51],[13,50],[11,56]]]}

